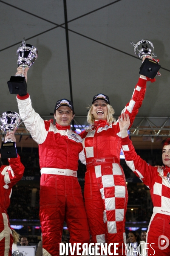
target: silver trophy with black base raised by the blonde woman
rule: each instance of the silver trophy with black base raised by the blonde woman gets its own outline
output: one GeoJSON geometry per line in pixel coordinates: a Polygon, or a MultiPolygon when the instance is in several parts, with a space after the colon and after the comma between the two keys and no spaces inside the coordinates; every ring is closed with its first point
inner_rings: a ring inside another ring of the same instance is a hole
{"type": "Polygon", "coordinates": [[[136,44],[130,41],[130,44],[134,46],[134,53],[141,60],[143,60],[144,57],[151,57],[151,59],[145,58],[145,60],[142,63],[142,66],[140,67],[139,74],[147,76],[150,79],[153,79],[161,67],[159,63],[155,61],[155,59],[153,59],[157,57],[156,54],[154,53],[153,43],[147,39],[141,39],[140,41],[136,42],[136,44]]]}

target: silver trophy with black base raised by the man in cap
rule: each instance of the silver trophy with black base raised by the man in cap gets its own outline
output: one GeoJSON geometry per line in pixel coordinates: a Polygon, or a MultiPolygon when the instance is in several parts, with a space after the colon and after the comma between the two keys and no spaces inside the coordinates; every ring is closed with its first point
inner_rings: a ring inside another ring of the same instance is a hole
{"type": "MultiPolygon", "coordinates": [[[[34,61],[38,58],[38,51],[31,44],[26,44],[25,38],[23,38],[23,44],[21,44],[20,47],[17,49],[17,55],[18,67],[26,69],[26,67],[30,68],[32,64],[34,64],[34,61]]],[[[27,84],[25,76],[23,74],[11,76],[11,79],[7,83],[9,92],[11,94],[27,94],[27,84]]]]}

